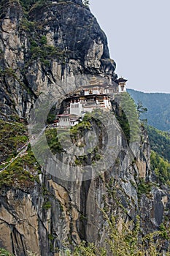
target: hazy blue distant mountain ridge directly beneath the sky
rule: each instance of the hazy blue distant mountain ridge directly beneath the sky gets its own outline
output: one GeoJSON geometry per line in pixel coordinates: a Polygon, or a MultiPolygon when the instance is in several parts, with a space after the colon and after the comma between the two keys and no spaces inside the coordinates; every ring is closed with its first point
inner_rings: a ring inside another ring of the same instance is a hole
{"type": "Polygon", "coordinates": [[[140,100],[147,108],[144,118],[147,118],[148,124],[162,131],[170,131],[170,94],[144,93],[133,89],[127,91],[136,103],[140,100]]]}

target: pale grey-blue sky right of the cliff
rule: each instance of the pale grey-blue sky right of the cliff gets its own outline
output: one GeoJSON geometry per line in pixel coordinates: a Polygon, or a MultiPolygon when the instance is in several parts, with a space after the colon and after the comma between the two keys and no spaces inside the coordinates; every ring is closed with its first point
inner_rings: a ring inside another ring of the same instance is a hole
{"type": "Polygon", "coordinates": [[[170,1],[90,0],[127,88],[170,93],[170,1]]]}

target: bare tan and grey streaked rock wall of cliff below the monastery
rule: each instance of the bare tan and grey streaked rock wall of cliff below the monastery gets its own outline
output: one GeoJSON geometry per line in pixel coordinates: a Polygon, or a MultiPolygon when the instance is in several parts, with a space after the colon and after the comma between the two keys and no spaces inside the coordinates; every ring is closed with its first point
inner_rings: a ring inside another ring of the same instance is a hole
{"type": "Polygon", "coordinates": [[[143,234],[159,230],[167,222],[169,190],[152,182],[146,134],[141,145],[130,147],[116,119],[113,127],[117,127],[114,138],[121,150],[112,166],[96,178],[64,181],[51,176],[50,170],[42,170],[34,187],[1,188],[0,247],[19,256],[28,255],[27,251],[53,256],[64,255],[82,240],[102,246],[107,221],[101,209],[117,217],[120,230],[122,222],[135,222],[137,215],[143,234]],[[142,170],[147,166],[142,175],[139,166],[142,170]]]}

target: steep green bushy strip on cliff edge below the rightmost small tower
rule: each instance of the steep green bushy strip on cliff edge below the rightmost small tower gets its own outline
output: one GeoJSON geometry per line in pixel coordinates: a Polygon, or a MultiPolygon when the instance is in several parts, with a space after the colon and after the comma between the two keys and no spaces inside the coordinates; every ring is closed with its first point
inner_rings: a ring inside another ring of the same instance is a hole
{"type": "Polygon", "coordinates": [[[116,105],[115,115],[123,129],[128,143],[139,139],[139,115],[134,100],[128,93],[122,93],[115,97],[113,105],[116,105]]]}

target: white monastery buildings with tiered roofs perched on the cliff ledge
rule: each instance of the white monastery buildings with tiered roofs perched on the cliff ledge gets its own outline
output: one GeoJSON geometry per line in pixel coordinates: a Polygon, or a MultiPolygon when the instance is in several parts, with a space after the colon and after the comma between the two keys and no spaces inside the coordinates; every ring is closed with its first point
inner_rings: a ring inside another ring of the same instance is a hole
{"type": "Polygon", "coordinates": [[[111,99],[117,93],[125,92],[127,80],[119,78],[114,86],[96,84],[96,78],[88,86],[82,86],[72,97],[67,98],[63,114],[58,115],[58,127],[71,127],[78,124],[85,113],[95,109],[112,110],[111,99]]]}

